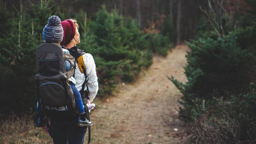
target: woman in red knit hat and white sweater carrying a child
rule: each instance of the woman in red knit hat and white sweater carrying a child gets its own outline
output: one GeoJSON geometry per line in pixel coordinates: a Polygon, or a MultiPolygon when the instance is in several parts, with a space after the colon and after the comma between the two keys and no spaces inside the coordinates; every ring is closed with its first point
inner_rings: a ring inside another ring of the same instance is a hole
{"type": "MultiPolygon", "coordinates": [[[[62,21],[61,25],[64,30],[64,36],[61,42],[62,48],[66,48],[68,50],[76,49],[76,44],[80,43],[80,34],[78,32],[79,27],[77,21],[75,19],[69,19],[62,21]]],[[[86,53],[82,55],[82,58],[86,66],[88,86],[84,86],[84,90],[82,90],[82,85],[84,84],[86,77],[82,72],[80,72],[77,63],[74,78],[76,80],[75,86],[77,90],[80,91],[81,95],[84,94],[85,90],[89,91],[88,100],[86,99],[87,97],[82,97],[85,105],[86,103],[90,104],[98,92],[98,78],[96,75],[96,66],[92,55],[86,53]]],[[[76,126],[76,116],[71,116],[68,114],[63,114],[61,116],[52,115],[50,116],[50,120],[51,124],[49,131],[54,144],[83,144],[87,127],[76,126]]]]}

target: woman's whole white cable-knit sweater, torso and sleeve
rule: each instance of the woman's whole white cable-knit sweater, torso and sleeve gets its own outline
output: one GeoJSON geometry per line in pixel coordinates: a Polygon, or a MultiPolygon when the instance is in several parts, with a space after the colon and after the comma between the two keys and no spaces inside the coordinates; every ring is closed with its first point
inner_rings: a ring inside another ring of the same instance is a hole
{"type": "MultiPolygon", "coordinates": [[[[98,77],[96,74],[96,66],[94,59],[91,54],[84,54],[83,55],[84,64],[86,66],[86,74],[88,76],[88,88],[89,88],[89,99],[90,102],[93,101],[97,92],[98,92],[98,77]]],[[[85,76],[83,73],[80,72],[77,63],[76,63],[76,70],[75,70],[75,79],[76,79],[76,88],[78,91],[82,90],[82,84],[85,81],[85,76]]],[[[86,86],[84,86],[84,90],[86,90],[86,86]]]]}

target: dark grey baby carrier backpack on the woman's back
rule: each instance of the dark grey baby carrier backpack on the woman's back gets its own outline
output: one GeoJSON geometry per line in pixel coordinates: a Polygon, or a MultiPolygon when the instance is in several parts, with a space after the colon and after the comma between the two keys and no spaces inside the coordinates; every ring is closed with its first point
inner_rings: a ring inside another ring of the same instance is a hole
{"type": "Polygon", "coordinates": [[[36,76],[38,103],[47,110],[68,111],[75,114],[76,104],[68,78],[74,75],[75,58],[63,53],[57,43],[43,43],[36,49],[36,76]],[[66,71],[64,60],[71,64],[66,71]]]}

